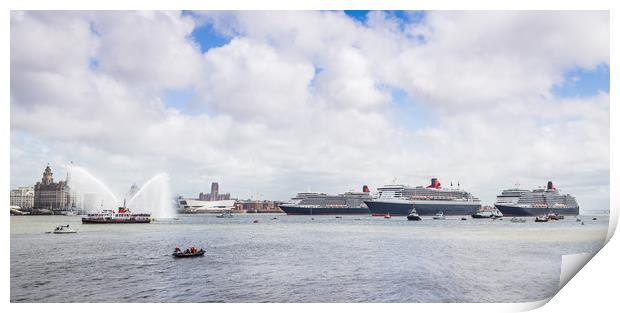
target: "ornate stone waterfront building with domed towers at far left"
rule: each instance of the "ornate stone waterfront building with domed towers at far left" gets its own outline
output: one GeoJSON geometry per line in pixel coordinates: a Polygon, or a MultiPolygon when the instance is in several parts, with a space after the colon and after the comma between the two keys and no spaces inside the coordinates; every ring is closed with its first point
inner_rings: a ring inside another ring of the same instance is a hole
{"type": "Polygon", "coordinates": [[[34,185],[33,207],[39,210],[66,211],[74,207],[67,180],[54,182],[54,174],[49,164],[43,178],[34,185]]]}

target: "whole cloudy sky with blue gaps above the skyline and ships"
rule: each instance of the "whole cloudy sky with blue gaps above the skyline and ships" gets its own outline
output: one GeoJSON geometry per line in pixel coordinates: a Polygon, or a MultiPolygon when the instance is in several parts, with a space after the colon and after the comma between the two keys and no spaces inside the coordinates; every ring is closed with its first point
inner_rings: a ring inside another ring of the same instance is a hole
{"type": "Polygon", "coordinates": [[[438,177],[609,208],[609,13],[13,11],[11,187],[287,200],[438,177]]]}

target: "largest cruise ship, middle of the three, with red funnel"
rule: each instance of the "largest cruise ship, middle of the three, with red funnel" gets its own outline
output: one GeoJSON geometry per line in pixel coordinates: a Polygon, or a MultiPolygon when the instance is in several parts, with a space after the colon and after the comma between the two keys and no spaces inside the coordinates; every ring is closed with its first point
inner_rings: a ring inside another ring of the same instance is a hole
{"type": "Polygon", "coordinates": [[[414,208],[419,215],[472,215],[481,207],[480,199],[471,193],[460,188],[441,188],[437,178],[432,178],[426,187],[386,185],[378,191],[378,198],[364,201],[373,215],[408,215],[414,208]]]}

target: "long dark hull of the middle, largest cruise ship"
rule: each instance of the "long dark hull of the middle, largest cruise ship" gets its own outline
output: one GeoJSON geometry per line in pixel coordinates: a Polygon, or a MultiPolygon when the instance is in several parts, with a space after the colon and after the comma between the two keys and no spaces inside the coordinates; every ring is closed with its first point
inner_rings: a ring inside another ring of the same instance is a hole
{"type": "Polygon", "coordinates": [[[374,215],[409,215],[415,208],[418,215],[472,215],[480,209],[480,203],[432,203],[431,201],[364,201],[374,215]]]}

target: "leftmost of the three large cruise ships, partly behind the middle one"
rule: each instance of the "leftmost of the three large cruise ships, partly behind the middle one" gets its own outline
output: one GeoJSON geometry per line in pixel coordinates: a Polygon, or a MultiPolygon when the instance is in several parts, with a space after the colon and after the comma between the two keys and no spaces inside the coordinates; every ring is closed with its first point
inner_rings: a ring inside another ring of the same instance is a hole
{"type": "Polygon", "coordinates": [[[362,192],[345,192],[339,195],[328,195],[317,192],[301,192],[288,203],[280,205],[280,209],[289,215],[319,214],[370,214],[365,200],[372,199],[368,186],[362,192]]]}

